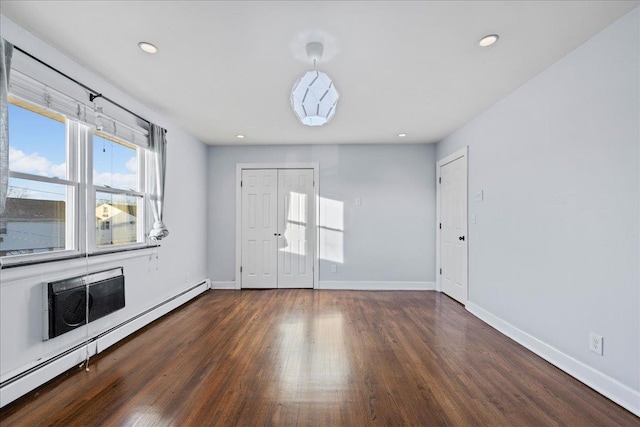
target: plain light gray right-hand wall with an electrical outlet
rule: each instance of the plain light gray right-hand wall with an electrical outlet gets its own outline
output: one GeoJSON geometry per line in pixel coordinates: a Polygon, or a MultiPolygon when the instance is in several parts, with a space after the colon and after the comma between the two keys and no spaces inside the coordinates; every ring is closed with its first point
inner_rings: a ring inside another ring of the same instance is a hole
{"type": "Polygon", "coordinates": [[[635,390],[639,29],[636,8],[437,146],[469,146],[469,300],[635,390]]]}

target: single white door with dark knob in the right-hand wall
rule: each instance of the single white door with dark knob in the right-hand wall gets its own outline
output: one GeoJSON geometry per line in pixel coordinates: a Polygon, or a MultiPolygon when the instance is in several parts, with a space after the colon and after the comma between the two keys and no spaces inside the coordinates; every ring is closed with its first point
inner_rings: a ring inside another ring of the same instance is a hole
{"type": "Polygon", "coordinates": [[[442,292],[467,303],[467,157],[440,166],[442,292]]]}

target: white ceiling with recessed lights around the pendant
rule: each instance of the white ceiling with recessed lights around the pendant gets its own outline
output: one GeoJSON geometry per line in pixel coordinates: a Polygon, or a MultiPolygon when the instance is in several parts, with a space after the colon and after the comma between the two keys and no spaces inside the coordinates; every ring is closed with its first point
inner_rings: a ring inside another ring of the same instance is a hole
{"type": "Polygon", "coordinates": [[[207,144],[428,143],[639,3],[2,0],[0,12],[207,144]],[[500,41],[478,47],[490,33],[500,41]],[[324,42],[318,69],[341,95],[322,127],[289,105],[308,41],[324,42]]]}

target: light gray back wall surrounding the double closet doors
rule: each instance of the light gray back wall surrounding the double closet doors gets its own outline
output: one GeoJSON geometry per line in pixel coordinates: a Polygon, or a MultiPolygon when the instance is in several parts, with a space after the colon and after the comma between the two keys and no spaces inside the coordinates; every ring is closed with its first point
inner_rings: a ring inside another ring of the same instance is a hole
{"type": "Polygon", "coordinates": [[[434,145],[216,146],[208,158],[212,280],[235,278],[236,164],[319,162],[320,202],[343,203],[344,218],[344,263],[321,259],[320,281],[435,281],[434,145]]]}

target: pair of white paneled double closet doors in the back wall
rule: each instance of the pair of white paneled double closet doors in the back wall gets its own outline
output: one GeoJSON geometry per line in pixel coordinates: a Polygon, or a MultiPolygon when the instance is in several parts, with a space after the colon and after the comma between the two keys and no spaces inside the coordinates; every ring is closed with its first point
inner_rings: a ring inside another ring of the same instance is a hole
{"type": "Polygon", "coordinates": [[[243,169],[241,287],[313,288],[313,169],[243,169]]]}

